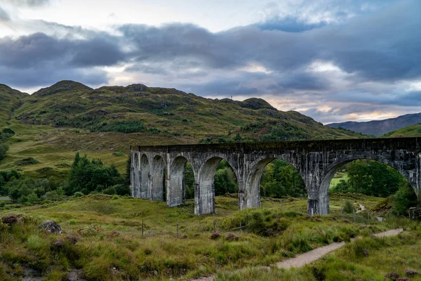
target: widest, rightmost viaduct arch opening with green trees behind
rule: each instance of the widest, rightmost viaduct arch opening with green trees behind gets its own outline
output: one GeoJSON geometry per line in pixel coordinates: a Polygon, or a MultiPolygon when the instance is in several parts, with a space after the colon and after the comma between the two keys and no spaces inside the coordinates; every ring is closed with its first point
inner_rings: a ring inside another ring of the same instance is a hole
{"type": "MultiPolygon", "coordinates": [[[[321,182],[319,207],[321,214],[330,211],[329,196],[335,193],[361,193],[372,197],[392,196],[392,213],[408,214],[409,207],[419,204],[416,188],[403,169],[374,159],[352,159],[330,169],[321,182]],[[326,208],[327,207],[327,208],[326,208]]],[[[340,202],[332,203],[333,210],[340,202]]]]}

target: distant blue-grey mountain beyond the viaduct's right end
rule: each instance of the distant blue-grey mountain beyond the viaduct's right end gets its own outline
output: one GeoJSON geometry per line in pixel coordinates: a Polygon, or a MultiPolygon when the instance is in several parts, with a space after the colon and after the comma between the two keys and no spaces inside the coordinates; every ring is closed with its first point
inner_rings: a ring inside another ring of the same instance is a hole
{"type": "Polygon", "coordinates": [[[344,129],[367,135],[382,136],[390,131],[395,131],[418,123],[421,123],[421,113],[402,115],[396,118],[374,120],[369,122],[332,123],[327,124],[326,126],[331,128],[342,127],[344,129]]]}

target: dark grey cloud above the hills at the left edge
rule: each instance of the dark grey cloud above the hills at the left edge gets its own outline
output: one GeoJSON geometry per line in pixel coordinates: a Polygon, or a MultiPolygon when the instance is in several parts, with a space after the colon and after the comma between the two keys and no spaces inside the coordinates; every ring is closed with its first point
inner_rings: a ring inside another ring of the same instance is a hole
{"type": "Polygon", "coordinates": [[[35,33],[0,39],[0,77],[4,84],[33,87],[71,79],[88,85],[107,84],[97,66],[115,65],[124,53],[108,34],[91,39],[58,39],[35,33]]]}

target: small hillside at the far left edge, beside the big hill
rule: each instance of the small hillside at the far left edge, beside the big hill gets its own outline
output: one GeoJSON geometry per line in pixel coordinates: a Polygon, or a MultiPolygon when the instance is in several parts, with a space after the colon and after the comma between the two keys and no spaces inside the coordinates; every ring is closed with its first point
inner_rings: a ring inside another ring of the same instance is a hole
{"type": "Polygon", "coordinates": [[[13,110],[20,107],[23,98],[29,96],[11,87],[0,84],[0,125],[1,122],[9,119],[13,110]]]}

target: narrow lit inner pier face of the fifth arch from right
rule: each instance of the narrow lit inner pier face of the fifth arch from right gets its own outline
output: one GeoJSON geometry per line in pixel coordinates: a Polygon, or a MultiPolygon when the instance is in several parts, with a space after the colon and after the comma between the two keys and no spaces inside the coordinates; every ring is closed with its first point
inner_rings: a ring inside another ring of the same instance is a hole
{"type": "Polygon", "coordinates": [[[166,164],[161,155],[156,155],[152,160],[151,171],[151,200],[164,201],[166,196],[166,178],[165,178],[166,164]]]}

